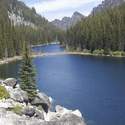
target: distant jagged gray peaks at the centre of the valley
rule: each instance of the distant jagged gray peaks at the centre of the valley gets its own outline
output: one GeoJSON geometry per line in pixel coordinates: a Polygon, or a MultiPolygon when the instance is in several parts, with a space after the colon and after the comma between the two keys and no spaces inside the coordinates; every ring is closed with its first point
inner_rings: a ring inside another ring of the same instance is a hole
{"type": "Polygon", "coordinates": [[[55,19],[51,23],[56,27],[66,30],[69,29],[71,26],[74,26],[78,21],[81,21],[84,16],[79,12],[75,12],[72,17],[64,17],[62,20],[55,19]]]}

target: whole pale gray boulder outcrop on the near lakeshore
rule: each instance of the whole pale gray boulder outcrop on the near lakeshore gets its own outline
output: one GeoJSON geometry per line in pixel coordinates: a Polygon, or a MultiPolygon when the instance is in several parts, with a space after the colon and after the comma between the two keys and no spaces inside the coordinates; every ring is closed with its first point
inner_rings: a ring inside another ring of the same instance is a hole
{"type": "Polygon", "coordinates": [[[17,80],[10,78],[0,83],[9,93],[8,98],[0,100],[0,125],[85,125],[79,110],[68,110],[57,105],[52,112],[52,99],[39,92],[28,102],[28,96],[17,80]]]}

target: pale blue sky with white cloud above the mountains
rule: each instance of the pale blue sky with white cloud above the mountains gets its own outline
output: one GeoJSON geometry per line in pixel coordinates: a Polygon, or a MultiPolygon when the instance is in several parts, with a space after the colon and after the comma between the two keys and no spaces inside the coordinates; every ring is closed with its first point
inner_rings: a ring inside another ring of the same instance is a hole
{"type": "Polygon", "coordinates": [[[49,21],[71,17],[75,11],[87,16],[102,0],[20,0],[49,21]]]}

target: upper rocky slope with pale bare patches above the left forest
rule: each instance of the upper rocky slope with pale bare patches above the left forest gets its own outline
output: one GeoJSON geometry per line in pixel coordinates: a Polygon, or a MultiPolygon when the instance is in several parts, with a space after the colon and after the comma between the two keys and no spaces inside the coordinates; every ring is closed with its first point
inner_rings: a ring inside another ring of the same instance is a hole
{"type": "Polygon", "coordinates": [[[48,21],[38,15],[34,8],[27,7],[23,2],[18,0],[5,0],[8,8],[9,18],[14,25],[29,25],[32,27],[47,24],[48,21]]]}

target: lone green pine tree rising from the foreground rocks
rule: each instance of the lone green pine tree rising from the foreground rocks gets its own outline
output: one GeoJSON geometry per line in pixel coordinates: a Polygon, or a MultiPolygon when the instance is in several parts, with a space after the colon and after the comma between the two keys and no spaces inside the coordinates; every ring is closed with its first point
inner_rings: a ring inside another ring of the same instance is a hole
{"type": "Polygon", "coordinates": [[[32,101],[37,92],[36,82],[35,82],[35,71],[32,65],[32,60],[30,58],[30,49],[24,42],[23,47],[23,60],[20,68],[20,87],[22,90],[28,93],[29,101],[32,101]]]}

